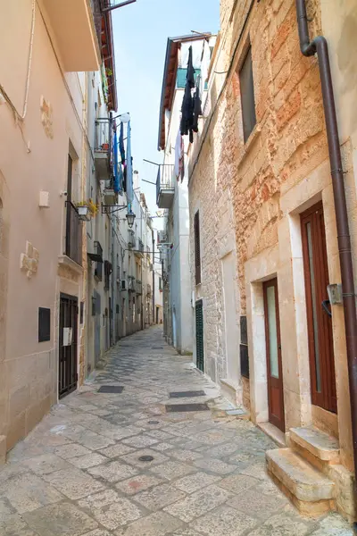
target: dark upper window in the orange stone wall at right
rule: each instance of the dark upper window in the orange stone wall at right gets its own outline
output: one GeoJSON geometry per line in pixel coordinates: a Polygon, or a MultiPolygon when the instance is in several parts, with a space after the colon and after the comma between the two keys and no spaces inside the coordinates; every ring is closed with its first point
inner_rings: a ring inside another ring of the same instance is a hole
{"type": "Polygon", "coordinates": [[[246,140],[252,134],[256,123],[252,47],[245,56],[245,61],[239,71],[240,95],[242,100],[243,135],[246,140]]]}

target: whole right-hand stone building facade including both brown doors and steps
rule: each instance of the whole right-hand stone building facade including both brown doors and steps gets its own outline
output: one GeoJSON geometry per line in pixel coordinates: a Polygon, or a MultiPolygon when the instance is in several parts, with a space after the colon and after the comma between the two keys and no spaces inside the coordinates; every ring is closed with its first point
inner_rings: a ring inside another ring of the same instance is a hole
{"type": "MultiPolygon", "coordinates": [[[[356,273],[356,87],[346,50],[355,47],[357,13],[353,2],[332,10],[319,0],[304,4],[310,39],[328,41],[356,273]]],[[[237,251],[241,367],[246,349],[249,356],[241,399],[253,422],[287,447],[268,456],[269,471],[301,511],[336,507],[353,519],[344,308],[328,304],[327,286],[341,283],[341,270],[318,58],[301,53],[294,0],[220,6],[209,102],[188,172],[193,281],[200,215],[202,282],[193,289],[203,297],[205,372],[221,381],[227,366],[220,262],[237,251]],[[333,462],[311,446],[328,438],[333,462]],[[298,496],[291,478],[296,467],[305,478],[311,465],[332,482],[320,498],[298,496]]]]}

